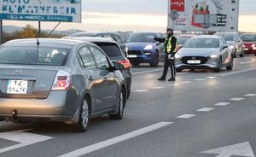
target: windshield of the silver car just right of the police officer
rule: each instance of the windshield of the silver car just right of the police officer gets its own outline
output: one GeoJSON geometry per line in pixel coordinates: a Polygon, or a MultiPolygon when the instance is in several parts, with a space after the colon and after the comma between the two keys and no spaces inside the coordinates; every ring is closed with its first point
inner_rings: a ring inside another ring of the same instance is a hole
{"type": "Polygon", "coordinates": [[[218,48],[218,38],[190,38],[183,48],[218,48]]]}

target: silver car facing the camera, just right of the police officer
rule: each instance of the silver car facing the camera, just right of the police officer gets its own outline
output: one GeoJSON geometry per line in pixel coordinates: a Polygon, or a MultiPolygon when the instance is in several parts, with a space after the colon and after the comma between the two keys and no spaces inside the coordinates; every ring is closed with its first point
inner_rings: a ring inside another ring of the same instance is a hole
{"type": "Polygon", "coordinates": [[[233,55],[224,38],[197,36],[190,38],[175,55],[177,72],[183,69],[211,68],[220,72],[223,67],[233,68],[233,55]]]}

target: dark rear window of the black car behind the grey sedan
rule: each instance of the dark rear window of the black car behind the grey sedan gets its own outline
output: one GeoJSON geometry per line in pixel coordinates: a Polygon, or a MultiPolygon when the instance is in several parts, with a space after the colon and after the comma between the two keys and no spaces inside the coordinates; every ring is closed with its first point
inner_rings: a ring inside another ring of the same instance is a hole
{"type": "Polygon", "coordinates": [[[123,56],[117,44],[112,43],[95,43],[99,46],[109,57],[123,56]]]}

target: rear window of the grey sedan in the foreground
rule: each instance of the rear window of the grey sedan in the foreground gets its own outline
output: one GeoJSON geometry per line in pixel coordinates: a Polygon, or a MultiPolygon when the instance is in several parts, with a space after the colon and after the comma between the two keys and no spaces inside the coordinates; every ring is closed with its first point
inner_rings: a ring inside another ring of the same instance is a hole
{"type": "Polygon", "coordinates": [[[48,47],[2,47],[0,64],[63,66],[66,64],[69,50],[48,47]]]}

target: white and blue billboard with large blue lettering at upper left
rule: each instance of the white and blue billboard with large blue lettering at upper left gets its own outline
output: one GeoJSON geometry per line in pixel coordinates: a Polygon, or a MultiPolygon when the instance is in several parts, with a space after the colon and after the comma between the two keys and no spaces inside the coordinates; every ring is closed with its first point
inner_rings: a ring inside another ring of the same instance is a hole
{"type": "Polygon", "coordinates": [[[0,20],[81,22],[81,0],[0,0],[0,20]]]}

